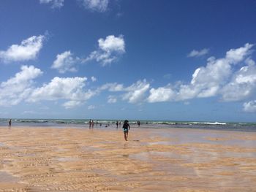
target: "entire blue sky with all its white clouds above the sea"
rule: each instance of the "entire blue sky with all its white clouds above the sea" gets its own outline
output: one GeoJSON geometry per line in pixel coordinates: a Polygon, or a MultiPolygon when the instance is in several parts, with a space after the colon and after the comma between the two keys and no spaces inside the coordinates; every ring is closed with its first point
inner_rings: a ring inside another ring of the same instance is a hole
{"type": "Polygon", "coordinates": [[[0,118],[255,121],[256,1],[2,0],[0,118]]]}

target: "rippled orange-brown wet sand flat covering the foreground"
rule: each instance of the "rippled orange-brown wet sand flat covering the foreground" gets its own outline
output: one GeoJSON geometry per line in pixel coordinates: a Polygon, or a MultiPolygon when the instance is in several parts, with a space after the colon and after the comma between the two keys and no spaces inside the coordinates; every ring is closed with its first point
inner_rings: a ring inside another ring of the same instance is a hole
{"type": "Polygon", "coordinates": [[[256,191],[256,133],[0,127],[0,191],[256,191]]]}

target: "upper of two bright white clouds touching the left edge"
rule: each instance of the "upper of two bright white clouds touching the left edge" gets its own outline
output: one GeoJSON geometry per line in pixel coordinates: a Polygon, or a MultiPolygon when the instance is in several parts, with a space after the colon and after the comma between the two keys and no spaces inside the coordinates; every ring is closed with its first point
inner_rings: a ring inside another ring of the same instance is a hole
{"type": "Polygon", "coordinates": [[[11,45],[7,50],[0,50],[0,58],[4,62],[35,59],[42,48],[44,39],[43,35],[29,37],[23,40],[20,45],[11,45]]]}

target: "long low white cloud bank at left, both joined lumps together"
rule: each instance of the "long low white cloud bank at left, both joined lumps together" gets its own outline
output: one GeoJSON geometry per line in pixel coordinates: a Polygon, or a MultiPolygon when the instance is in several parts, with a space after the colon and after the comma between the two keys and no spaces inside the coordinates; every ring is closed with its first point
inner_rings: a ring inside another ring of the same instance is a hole
{"type": "Polygon", "coordinates": [[[35,88],[34,79],[42,75],[34,66],[21,66],[21,71],[0,84],[0,106],[17,105],[21,101],[64,101],[66,109],[83,104],[99,91],[86,89],[86,77],[54,77],[50,82],[35,88]]]}

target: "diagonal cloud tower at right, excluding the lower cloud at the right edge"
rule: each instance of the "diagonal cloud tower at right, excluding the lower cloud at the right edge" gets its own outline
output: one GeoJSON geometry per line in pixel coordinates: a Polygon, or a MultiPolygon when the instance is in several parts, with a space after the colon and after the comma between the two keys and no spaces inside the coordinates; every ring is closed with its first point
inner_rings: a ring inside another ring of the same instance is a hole
{"type": "Polygon", "coordinates": [[[217,96],[223,86],[230,82],[233,72],[233,64],[244,61],[252,51],[253,45],[246,44],[244,47],[227,51],[225,58],[208,58],[206,66],[196,69],[189,85],[181,85],[178,91],[180,98],[192,99],[195,97],[217,96]]]}

